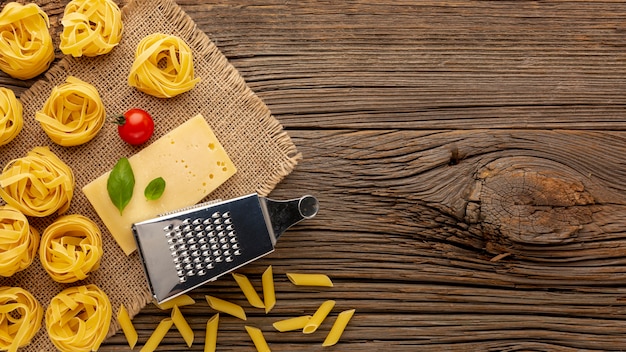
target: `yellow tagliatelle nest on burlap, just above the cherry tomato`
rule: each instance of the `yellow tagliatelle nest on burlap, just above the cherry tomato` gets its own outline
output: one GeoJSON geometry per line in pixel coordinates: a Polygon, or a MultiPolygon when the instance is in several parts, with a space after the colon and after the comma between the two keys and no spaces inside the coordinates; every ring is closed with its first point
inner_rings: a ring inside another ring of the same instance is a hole
{"type": "Polygon", "coordinates": [[[154,33],[137,45],[128,76],[132,87],[158,98],[171,98],[191,90],[199,81],[194,78],[191,48],[181,38],[154,33]]]}

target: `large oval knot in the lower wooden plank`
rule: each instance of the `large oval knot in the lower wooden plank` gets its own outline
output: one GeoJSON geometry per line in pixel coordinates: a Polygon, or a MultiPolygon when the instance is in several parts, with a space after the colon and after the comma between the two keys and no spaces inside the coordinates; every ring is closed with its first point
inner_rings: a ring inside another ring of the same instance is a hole
{"type": "Polygon", "coordinates": [[[546,163],[510,158],[478,173],[466,216],[494,249],[572,241],[592,222],[594,199],[576,173],[546,163]]]}

